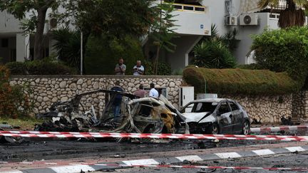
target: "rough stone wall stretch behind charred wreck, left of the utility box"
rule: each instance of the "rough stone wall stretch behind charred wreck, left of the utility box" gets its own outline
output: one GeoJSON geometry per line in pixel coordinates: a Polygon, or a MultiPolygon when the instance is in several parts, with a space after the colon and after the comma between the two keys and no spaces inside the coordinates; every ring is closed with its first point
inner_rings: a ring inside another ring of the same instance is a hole
{"type": "MultiPolygon", "coordinates": [[[[46,112],[52,103],[66,101],[76,94],[86,93],[91,90],[110,89],[116,80],[127,93],[133,93],[140,84],[150,87],[155,83],[157,88],[168,88],[168,100],[178,107],[179,88],[183,83],[182,76],[116,76],[116,75],[74,75],[74,76],[13,76],[11,85],[29,83],[32,88],[31,98],[34,100],[34,113],[46,112]]],[[[96,112],[103,112],[105,95],[93,94],[81,99],[86,110],[91,105],[96,112]]]]}

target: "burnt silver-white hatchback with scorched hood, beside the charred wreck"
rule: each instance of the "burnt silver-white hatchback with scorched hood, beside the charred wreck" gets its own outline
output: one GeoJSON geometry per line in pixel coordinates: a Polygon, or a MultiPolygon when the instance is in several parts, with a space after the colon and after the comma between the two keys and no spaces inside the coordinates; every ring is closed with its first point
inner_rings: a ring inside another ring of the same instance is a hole
{"type": "Polygon", "coordinates": [[[180,110],[192,134],[250,133],[250,118],[235,100],[206,98],[194,100],[180,110]]]}

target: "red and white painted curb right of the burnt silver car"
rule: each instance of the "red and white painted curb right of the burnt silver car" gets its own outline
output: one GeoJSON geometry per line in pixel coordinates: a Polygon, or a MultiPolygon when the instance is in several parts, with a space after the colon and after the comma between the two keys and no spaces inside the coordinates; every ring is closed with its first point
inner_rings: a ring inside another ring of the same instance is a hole
{"type": "Polygon", "coordinates": [[[308,131],[308,125],[297,125],[297,126],[284,126],[284,127],[260,127],[251,128],[251,132],[279,132],[279,131],[297,131],[306,130],[308,131]]]}

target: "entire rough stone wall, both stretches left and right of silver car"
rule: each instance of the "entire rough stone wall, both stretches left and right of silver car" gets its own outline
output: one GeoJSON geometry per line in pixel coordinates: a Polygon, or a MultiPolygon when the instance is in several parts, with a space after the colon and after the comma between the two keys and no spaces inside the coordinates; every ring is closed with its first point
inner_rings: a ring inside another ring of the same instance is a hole
{"type": "MultiPolygon", "coordinates": [[[[76,94],[86,93],[91,90],[112,88],[115,81],[120,80],[120,85],[128,93],[133,93],[140,84],[149,87],[168,88],[168,100],[176,108],[179,103],[179,89],[183,85],[182,76],[115,76],[115,75],[74,75],[74,76],[14,76],[11,85],[29,83],[33,93],[34,113],[46,112],[52,103],[59,100],[69,100],[76,94]]],[[[294,121],[308,120],[308,91],[289,95],[218,95],[220,98],[237,100],[251,119],[257,122],[280,122],[281,117],[292,117],[294,121]]],[[[103,112],[104,94],[93,94],[82,98],[81,103],[88,110],[91,105],[96,111],[103,112]]]]}

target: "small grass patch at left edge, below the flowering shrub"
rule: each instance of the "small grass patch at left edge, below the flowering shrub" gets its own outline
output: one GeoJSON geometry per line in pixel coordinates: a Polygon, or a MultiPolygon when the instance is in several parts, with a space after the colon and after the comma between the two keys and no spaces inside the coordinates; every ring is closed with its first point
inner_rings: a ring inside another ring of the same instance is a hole
{"type": "Polygon", "coordinates": [[[13,119],[9,117],[0,117],[0,124],[11,125],[12,127],[20,127],[21,130],[33,130],[36,124],[41,124],[43,120],[27,117],[25,119],[13,119]]]}

